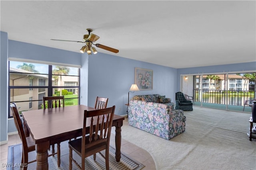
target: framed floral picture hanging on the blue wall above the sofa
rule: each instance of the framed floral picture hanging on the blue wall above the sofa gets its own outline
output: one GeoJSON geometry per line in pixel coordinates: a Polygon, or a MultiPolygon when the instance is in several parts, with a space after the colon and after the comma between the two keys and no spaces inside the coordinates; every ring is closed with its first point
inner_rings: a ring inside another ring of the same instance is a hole
{"type": "Polygon", "coordinates": [[[135,80],[140,90],[153,90],[153,70],[135,67],[135,80]]]}

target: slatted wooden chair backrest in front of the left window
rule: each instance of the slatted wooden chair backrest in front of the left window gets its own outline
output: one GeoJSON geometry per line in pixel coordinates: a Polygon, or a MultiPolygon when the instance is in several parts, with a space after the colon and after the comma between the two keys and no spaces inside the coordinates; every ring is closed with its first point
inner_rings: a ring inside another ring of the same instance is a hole
{"type": "Polygon", "coordinates": [[[62,107],[64,107],[65,106],[64,96],[43,97],[44,109],[46,109],[46,101],[47,101],[47,104],[48,104],[48,108],[53,108],[53,107],[60,107],[61,106],[61,100],[62,100],[62,107]]]}

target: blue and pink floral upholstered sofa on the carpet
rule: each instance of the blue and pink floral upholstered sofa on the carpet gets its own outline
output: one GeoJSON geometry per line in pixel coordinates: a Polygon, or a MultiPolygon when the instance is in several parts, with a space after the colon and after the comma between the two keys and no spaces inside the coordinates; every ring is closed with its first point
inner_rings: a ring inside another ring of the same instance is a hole
{"type": "Polygon", "coordinates": [[[174,110],[170,98],[160,94],[134,96],[128,107],[128,124],[164,139],[185,131],[183,110],[174,110]]]}

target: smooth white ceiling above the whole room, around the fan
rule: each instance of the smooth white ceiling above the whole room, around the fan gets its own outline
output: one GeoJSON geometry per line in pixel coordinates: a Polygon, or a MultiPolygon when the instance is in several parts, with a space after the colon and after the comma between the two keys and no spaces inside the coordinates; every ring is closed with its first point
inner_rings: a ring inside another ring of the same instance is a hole
{"type": "MultiPolygon", "coordinates": [[[[188,68],[256,61],[256,1],[0,1],[11,40],[79,52],[96,43],[148,63],[188,68]]],[[[93,57],[93,55],[90,55],[93,57]]]]}

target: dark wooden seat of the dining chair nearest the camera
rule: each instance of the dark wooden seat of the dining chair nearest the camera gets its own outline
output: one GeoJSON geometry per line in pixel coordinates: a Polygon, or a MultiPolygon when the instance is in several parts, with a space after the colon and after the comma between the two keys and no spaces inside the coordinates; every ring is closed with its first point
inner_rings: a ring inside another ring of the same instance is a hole
{"type": "MultiPolygon", "coordinates": [[[[98,135],[98,137],[100,137],[100,136],[98,135]]],[[[92,139],[93,139],[92,141],[94,141],[94,135],[93,135],[92,139]]],[[[89,143],[89,136],[86,136],[85,143],[86,144],[89,143]]],[[[77,154],[82,156],[82,138],[69,141],[68,144],[77,154]]],[[[89,148],[86,147],[86,150],[85,150],[86,157],[92,155],[93,153],[91,153],[91,152],[92,151],[95,152],[95,149],[97,149],[98,152],[106,149],[106,141],[102,140],[101,143],[98,143],[98,144],[94,145],[93,147],[89,147],[89,148]]]]}

